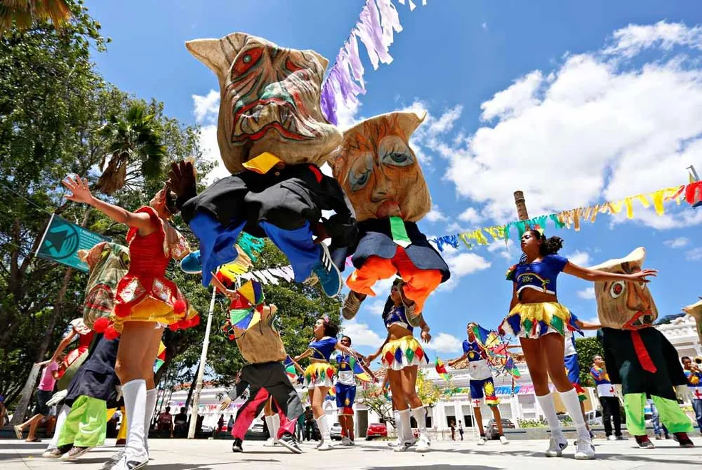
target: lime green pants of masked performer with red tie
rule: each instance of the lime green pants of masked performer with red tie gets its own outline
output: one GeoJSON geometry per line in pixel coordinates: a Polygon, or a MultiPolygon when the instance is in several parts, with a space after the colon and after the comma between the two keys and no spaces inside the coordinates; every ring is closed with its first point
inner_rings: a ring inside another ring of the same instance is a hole
{"type": "MultiPolygon", "coordinates": [[[[694,428],[685,412],[680,409],[678,402],[666,398],[651,395],[653,403],[661,414],[661,422],[666,425],[668,431],[692,432],[694,428]]],[[[629,393],[624,395],[624,412],[626,412],[626,429],[632,436],[644,436],[646,434],[646,422],[644,420],[644,407],[646,407],[646,394],[629,393]]]]}

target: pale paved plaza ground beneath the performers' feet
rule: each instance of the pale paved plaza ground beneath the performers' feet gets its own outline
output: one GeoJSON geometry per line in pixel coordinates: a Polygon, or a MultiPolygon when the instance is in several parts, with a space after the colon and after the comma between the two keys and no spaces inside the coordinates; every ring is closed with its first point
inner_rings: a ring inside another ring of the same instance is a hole
{"type": "MultiPolygon", "coordinates": [[[[702,439],[697,437],[698,444],[702,439]]],[[[26,444],[24,441],[0,440],[0,469],[99,469],[113,452],[113,440],[107,446],[93,449],[76,462],[41,459],[46,444],[26,444]]],[[[477,446],[474,442],[438,441],[426,454],[398,454],[382,441],[360,441],[353,448],[337,447],[320,452],[312,444],[303,444],[304,454],[295,455],[285,449],[263,447],[263,441],[244,443],[244,454],[233,454],[232,441],[182,439],[152,439],[151,470],[283,470],[283,469],[365,469],[383,470],[492,470],[492,469],[702,469],[702,446],[680,449],[674,441],[656,441],[656,449],[641,450],[634,441],[604,441],[595,444],[599,459],[576,461],[574,447],[568,447],[561,459],[546,459],[546,441],[513,441],[502,446],[490,442],[477,446]]]]}

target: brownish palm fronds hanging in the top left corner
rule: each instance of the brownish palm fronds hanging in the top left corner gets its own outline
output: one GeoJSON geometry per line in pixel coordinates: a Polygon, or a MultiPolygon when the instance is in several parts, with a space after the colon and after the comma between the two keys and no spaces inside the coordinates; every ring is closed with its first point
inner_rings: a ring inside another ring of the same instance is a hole
{"type": "Polygon", "coordinates": [[[66,0],[0,0],[0,35],[13,23],[17,29],[29,29],[36,21],[51,21],[60,28],[71,18],[66,0]]]}

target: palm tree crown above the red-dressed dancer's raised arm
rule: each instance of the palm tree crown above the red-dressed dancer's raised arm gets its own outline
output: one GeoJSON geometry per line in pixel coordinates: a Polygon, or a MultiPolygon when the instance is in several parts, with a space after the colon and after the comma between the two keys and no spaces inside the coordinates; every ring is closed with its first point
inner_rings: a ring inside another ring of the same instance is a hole
{"type": "Polygon", "coordinates": [[[166,145],[161,143],[154,117],[143,105],[136,104],[124,118],[111,116],[102,126],[98,134],[108,141],[109,153],[100,165],[105,168],[107,163],[96,189],[111,195],[135,180],[161,175],[166,145]]]}

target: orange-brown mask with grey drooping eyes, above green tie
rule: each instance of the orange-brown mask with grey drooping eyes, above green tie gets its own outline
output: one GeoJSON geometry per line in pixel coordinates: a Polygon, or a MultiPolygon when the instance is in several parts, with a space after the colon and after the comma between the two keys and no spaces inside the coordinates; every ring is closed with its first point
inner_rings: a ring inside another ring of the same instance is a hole
{"type": "Polygon", "coordinates": [[[359,222],[392,216],[417,222],[432,209],[422,168],[409,147],[423,120],[415,113],[387,113],[344,133],[332,166],[359,222]]]}

